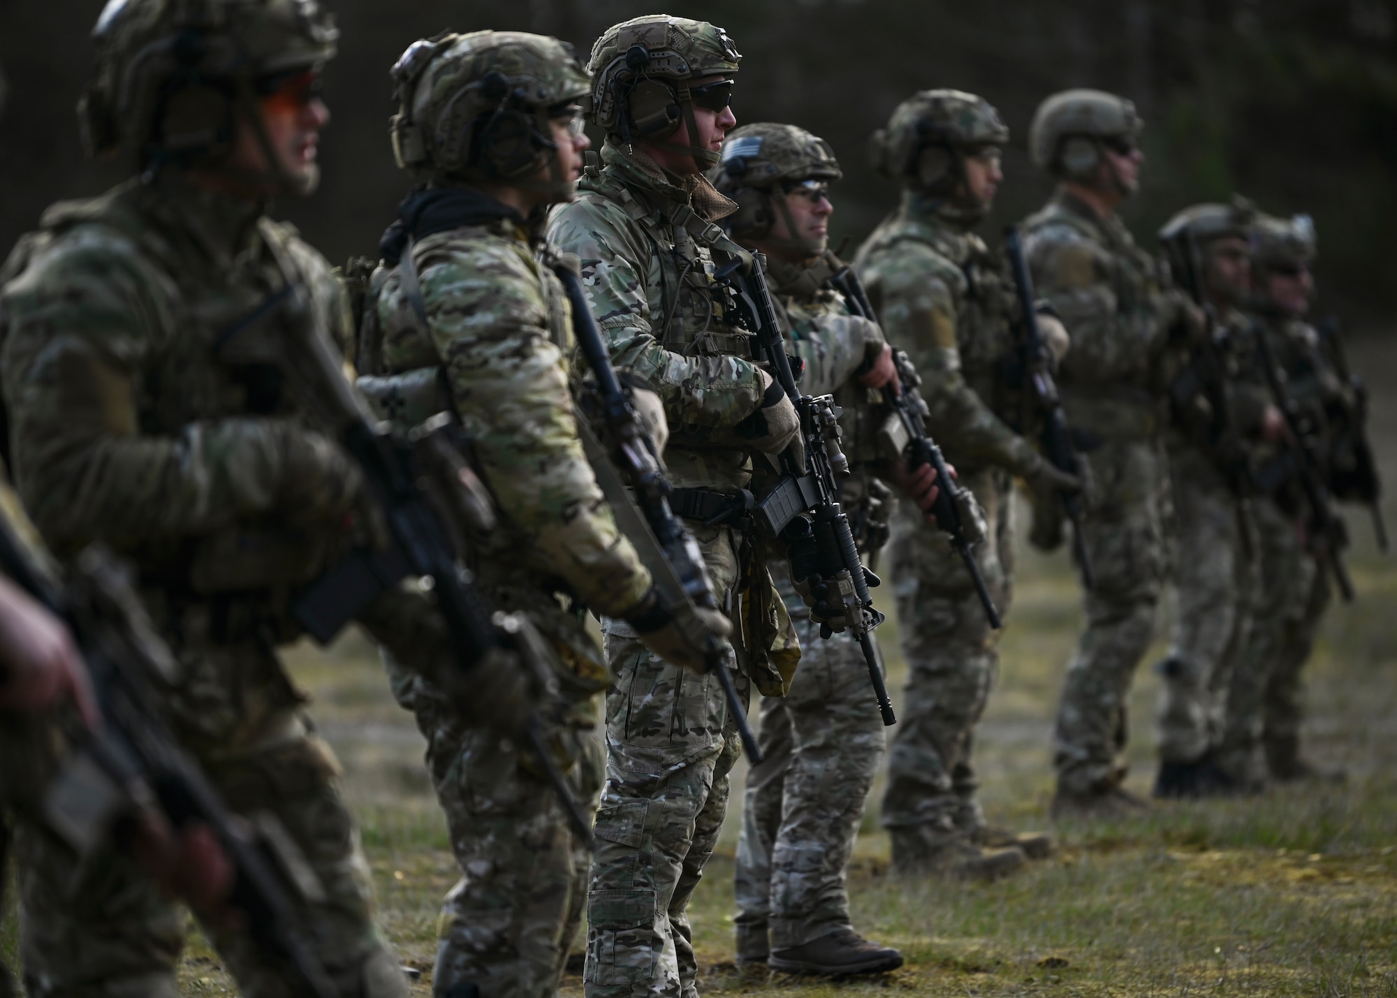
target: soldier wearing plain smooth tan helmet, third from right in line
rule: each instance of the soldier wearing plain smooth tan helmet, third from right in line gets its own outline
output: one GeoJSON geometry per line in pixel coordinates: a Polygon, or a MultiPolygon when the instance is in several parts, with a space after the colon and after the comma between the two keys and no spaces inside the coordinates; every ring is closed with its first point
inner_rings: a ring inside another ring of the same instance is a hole
{"type": "Polygon", "coordinates": [[[1039,105],[1028,136],[1035,165],[1059,186],[1024,222],[1024,250],[1034,287],[1071,330],[1060,382],[1067,419],[1099,439],[1083,531],[1095,586],[1058,710],[1055,815],[1144,807],[1120,783],[1126,697],[1166,570],[1169,475],[1151,372],[1171,326],[1201,319],[1182,295],[1161,291],[1157,263],[1115,215],[1139,186],[1140,131],[1129,101],[1066,91],[1039,105]]]}

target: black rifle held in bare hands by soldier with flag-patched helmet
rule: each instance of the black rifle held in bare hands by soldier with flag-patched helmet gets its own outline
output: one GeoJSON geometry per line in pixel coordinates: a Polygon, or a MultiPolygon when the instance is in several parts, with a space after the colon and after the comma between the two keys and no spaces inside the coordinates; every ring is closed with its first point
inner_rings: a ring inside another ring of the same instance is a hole
{"type": "MultiPolygon", "coordinates": [[[[844,295],[844,301],[849,303],[849,308],[856,314],[869,321],[877,321],[877,316],[873,313],[873,303],[869,302],[868,294],[863,291],[863,282],[859,281],[858,274],[851,267],[841,267],[830,278],[830,284],[844,295]]],[[[921,377],[912,372],[912,363],[907,352],[901,349],[894,351],[893,363],[897,368],[897,383],[884,386],[883,401],[897,414],[902,435],[907,437],[907,443],[901,444],[898,450],[907,450],[904,460],[907,461],[908,471],[916,471],[925,464],[930,464],[932,470],[936,471],[937,495],[932,503],[932,516],[936,517],[936,526],[946,534],[946,540],[950,541],[951,548],[960,555],[965,572],[970,573],[971,583],[975,586],[975,594],[979,597],[979,602],[985,608],[985,616],[989,619],[989,626],[999,630],[1003,626],[1003,621],[999,618],[999,609],[989,594],[989,587],[985,586],[985,576],[975,562],[975,555],[971,554],[971,545],[983,540],[978,530],[975,530],[975,517],[972,513],[975,500],[967,489],[956,484],[950,470],[946,467],[946,457],[942,454],[942,449],[936,446],[936,442],[926,432],[928,408],[918,391],[921,377]]]]}

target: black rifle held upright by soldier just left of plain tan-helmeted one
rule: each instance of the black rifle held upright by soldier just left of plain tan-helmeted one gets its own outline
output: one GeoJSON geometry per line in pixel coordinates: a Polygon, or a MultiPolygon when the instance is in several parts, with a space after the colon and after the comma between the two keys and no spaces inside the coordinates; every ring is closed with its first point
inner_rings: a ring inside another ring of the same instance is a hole
{"type": "MultiPolygon", "coordinates": [[[[1014,225],[1004,229],[1004,254],[1009,257],[1014,294],[1018,298],[1021,313],[1020,352],[1023,354],[1024,393],[1032,410],[1031,421],[1042,428],[1038,436],[1039,450],[1055,468],[1085,481],[1087,464],[1077,453],[1071,428],[1067,425],[1067,414],[1063,411],[1062,397],[1058,394],[1058,384],[1052,376],[1052,354],[1044,340],[1042,328],[1038,326],[1034,278],[1028,273],[1024,243],[1014,225]]],[[[1095,586],[1095,579],[1091,572],[1091,559],[1087,556],[1087,542],[1081,534],[1087,498],[1080,489],[1060,489],[1058,498],[1071,521],[1071,549],[1081,572],[1081,584],[1091,590],[1095,586]]]]}

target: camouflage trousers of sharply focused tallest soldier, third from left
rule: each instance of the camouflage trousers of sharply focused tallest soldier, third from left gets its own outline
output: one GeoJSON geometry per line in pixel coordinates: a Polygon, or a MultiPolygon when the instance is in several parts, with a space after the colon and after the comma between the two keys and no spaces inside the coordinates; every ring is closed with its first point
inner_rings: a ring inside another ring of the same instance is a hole
{"type": "MultiPolygon", "coordinates": [[[[738,581],[738,537],[690,523],[719,595],[738,581]]],[[[718,679],[650,654],[608,621],[606,784],[587,895],[587,998],[696,998],[687,906],[728,811],[742,753],[718,679]]],[[[749,681],[728,663],[743,697],[749,681]]]]}

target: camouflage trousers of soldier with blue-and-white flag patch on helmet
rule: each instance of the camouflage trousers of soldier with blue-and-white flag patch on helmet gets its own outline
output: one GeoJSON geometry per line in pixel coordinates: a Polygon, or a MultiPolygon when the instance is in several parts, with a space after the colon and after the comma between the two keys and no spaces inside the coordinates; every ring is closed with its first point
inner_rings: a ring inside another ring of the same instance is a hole
{"type": "Polygon", "coordinates": [[[844,868],[883,755],[883,718],[858,642],[821,639],[803,608],[791,616],[800,670],[789,693],[761,700],[763,760],[747,774],[742,808],[739,959],[851,925],[844,868]]]}

